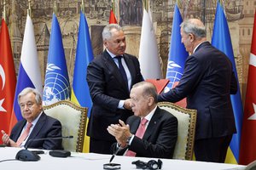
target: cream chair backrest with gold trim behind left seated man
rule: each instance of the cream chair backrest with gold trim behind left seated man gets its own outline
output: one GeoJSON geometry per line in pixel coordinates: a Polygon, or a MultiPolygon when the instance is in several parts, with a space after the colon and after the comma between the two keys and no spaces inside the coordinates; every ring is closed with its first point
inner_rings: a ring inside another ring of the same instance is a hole
{"type": "Polygon", "coordinates": [[[82,152],[87,108],[61,100],[55,104],[44,106],[44,112],[61,122],[62,136],[73,136],[73,139],[62,140],[64,150],[82,152]]]}

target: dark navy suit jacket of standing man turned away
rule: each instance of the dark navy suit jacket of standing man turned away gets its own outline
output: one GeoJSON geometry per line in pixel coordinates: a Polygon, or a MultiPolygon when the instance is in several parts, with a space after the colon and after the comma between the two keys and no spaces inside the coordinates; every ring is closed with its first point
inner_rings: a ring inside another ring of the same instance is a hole
{"type": "Polygon", "coordinates": [[[197,110],[195,139],[236,133],[230,94],[237,81],[228,57],[210,42],[203,42],[186,60],[176,88],[160,94],[159,101],[177,102],[187,97],[187,107],[197,110]]]}

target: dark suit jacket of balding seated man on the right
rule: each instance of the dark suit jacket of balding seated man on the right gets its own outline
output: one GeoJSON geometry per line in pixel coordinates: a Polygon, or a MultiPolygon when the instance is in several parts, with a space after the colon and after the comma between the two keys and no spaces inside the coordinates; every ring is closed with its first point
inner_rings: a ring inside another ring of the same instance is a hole
{"type": "MultiPolygon", "coordinates": [[[[138,116],[130,116],[127,119],[132,134],[137,132],[140,120],[141,118],[138,116]]],[[[176,141],[177,118],[168,111],[157,107],[150,122],[148,122],[143,139],[134,136],[128,149],[136,152],[136,156],[171,159],[176,141]]],[[[116,150],[116,145],[116,143],[113,144],[112,150],[116,150]]],[[[118,155],[123,155],[126,149],[120,150],[118,155]]]]}

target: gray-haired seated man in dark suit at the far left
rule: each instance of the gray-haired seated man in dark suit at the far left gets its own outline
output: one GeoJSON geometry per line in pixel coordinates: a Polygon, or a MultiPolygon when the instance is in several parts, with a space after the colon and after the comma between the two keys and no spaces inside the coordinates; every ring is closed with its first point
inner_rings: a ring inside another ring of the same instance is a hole
{"type": "Polygon", "coordinates": [[[44,150],[62,150],[62,139],[44,139],[29,142],[30,139],[61,137],[61,122],[46,116],[42,107],[41,94],[34,88],[23,89],[18,102],[23,119],[15,124],[10,135],[3,133],[3,144],[44,150]]]}

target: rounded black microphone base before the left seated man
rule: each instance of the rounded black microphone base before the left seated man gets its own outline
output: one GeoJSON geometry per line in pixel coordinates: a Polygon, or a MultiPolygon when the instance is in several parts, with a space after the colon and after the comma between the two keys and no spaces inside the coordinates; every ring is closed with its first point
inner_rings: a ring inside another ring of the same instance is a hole
{"type": "Polygon", "coordinates": [[[20,150],[15,157],[16,160],[20,161],[39,161],[40,158],[40,156],[30,150],[20,150]]]}

